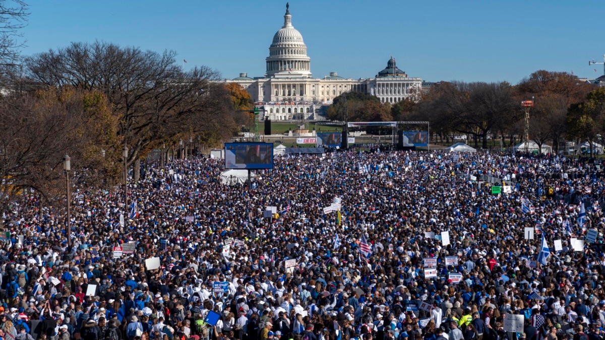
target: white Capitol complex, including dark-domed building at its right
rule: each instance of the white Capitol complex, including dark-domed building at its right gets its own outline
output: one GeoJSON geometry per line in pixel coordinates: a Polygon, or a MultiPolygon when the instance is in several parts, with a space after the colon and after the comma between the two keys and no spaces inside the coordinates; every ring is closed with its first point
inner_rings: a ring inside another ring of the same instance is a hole
{"type": "Polygon", "coordinates": [[[408,77],[397,68],[393,57],[374,78],[346,79],[336,72],[313,78],[307,46],[292,26],[288,4],[284,25],[273,36],[266,64],[264,77],[250,78],[240,73],[239,77],[226,80],[246,89],[255,106],[264,110],[259,115],[261,120],[318,120],[322,119],[322,107],[347,91],[370,93],[382,102],[396,103],[422,87],[422,79],[408,77]]]}

